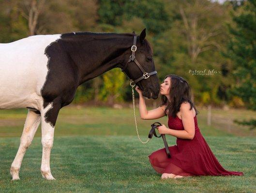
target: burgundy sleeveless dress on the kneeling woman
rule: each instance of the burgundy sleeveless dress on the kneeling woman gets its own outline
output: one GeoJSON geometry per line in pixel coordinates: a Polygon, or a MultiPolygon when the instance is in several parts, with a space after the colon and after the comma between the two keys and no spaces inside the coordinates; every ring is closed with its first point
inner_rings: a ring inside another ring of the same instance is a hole
{"type": "MultiPolygon", "coordinates": [[[[149,160],[158,173],[172,173],[180,176],[243,176],[243,172],[227,171],[224,169],[203,138],[195,121],[195,137],[193,139],[177,138],[177,145],[169,147],[171,158],[166,155],[165,148],[152,152],[149,160]]],[[[168,126],[175,130],[184,130],[181,119],[169,115],[168,126]]]]}

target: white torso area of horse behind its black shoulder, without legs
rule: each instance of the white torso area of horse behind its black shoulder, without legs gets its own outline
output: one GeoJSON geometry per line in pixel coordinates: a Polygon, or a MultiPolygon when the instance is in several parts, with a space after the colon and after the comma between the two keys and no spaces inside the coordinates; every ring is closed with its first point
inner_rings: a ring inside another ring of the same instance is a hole
{"type": "Polygon", "coordinates": [[[0,43],[0,109],[27,107],[41,98],[48,72],[45,48],[59,38],[37,35],[0,43]]]}

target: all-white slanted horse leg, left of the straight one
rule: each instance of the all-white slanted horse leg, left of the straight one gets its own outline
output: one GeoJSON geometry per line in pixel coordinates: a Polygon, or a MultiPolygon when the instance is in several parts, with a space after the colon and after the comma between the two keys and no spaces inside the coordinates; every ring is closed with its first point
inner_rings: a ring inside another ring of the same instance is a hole
{"type": "Polygon", "coordinates": [[[12,180],[19,179],[19,169],[23,156],[26,150],[29,148],[40,122],[40,114],[37,114],[33,110],[29,110],[26,122],[24,124],[24,129],[20,138],[19,149],[10,169],[13,178],[12,180]]]}

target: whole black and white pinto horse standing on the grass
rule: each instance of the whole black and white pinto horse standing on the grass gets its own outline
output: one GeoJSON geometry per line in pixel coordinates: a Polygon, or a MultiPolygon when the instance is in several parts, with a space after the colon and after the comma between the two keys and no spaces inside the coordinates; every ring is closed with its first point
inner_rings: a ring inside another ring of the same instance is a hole
{"type": "MultiPolygon", "coordinates": [[[[135,62],[127,64],[136,39],[136,59],[145,71],[155,71],[152,50],[139,36],[117,33],[73,32],[35,35],[11,43],[0,43],[0,109],[28,108],[20,145],[11,165],[12,179],[19,179],[23,156],[42,124],[41,173],[54,179],[50,170],[50,152],[59,110],[70,104],[77,87],[104,72],[125,67],[131,80],[142,76],[135,62]],[[134,38],[135,37],[135,38],[134,38]]],[[[157,75],[136,83],[143,96],[156,99],[157,75]]]]}

